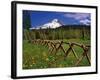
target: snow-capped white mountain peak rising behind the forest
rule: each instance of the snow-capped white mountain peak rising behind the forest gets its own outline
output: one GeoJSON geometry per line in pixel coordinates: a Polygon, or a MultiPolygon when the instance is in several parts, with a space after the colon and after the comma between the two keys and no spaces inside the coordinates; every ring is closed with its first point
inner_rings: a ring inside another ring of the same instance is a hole
{"type": "Polygon", "coordinates": [[[62,26],[63,24],[61,24],[61,22],[58,19],[53,19],[51,22],[48,22],[44,25],[38,26],[36,28],[30,28],[32,29],[47,29],[47,28],[51,28],[51,29],[55,29],[58,28],[60,26],[62,26]]]}

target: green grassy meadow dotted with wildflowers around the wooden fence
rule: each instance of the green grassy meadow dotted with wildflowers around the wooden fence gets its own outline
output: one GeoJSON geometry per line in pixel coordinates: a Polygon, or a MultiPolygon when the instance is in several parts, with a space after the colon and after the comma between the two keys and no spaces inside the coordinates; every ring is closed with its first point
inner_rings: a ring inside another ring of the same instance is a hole
{"type": "MultiPolygon", "coordinates": [[[[68,39],[66,42],[77,42],[80,44],[90,44],[90,40],[68,39]]],[[[63,45],[64,49],[69,48],[68,45],[63,45]]],[[[83,53],[82,48],[74,46],[74,50],[80,57],[83,53]]],[[[57,54],[50,53],[48,47],[23,41],[23,69],[42,69],[42,68],[59,68],[59,67],[75,67],[77,59],[72,52],[67,58],[64,58],[64,53],[59,50],[57,54]]],[[[90,56],[90,53],[89,53],[90,56]]],[[[78,66],[90,66],[87,59],[84,58],[78,66]]]]}

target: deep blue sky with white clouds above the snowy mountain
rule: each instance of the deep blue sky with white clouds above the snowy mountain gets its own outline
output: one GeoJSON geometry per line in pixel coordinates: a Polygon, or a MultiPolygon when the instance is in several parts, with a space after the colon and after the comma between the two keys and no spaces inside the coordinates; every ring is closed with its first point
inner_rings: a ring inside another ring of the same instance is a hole
{"type": "Polygon", "coordinates": [[[90,25],[90,13],[51,12],[51,11],[23,11],[23,17],[30,15],[31,27],[38,27],[58,19],[64,25],[90,25]]]}

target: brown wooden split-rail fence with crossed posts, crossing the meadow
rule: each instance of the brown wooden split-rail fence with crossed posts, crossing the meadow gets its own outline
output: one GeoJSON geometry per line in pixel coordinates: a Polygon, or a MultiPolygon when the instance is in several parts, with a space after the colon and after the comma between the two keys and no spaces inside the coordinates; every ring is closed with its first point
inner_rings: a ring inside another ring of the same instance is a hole
{"type": "Polygon", "coordinates": [[[46,47],[48,47],[49,49],[49,53],[54,53],[55,55],[57,54],[57,52],[59,50],[62,50],[64,53],[64,58],[67,58],[70,51],[72,51],[72,53],[74,54],[75,58],[77,59],[75,66],[78,66],[79,63],[83,60],[84,57],[86,57],[87,61],[89,64],[91,64],[91,60],[89,57],[89,50],[90,50],[90,46],[89,45],[82,45],[82,44],[78,44],[78,43],[68,43],[68,42],[64,42],[64,41],[51,41],[51,40],[31,40],[30,41],[33,44],[39,44],[39,45],[44,45],[46,47]],[[64,49],[63,45],[68,45],[69,48],[67,50],[64,49]],[[83,53],[80,57],[78,57],[77,53],[74,50],[74,46],[78,46],[83,50],[83,53]]]}

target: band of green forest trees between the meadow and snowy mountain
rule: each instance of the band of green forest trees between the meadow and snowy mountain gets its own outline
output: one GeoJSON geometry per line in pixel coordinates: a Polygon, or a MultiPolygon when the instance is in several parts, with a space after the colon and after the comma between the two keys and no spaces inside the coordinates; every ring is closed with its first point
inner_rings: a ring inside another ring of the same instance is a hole
{"type": "Polygon", "coordinates": [[[90,39],[90,26],[86,25],[67,25],[56,29],[38,29],[27,30],[24,29],[24,39],[90,39]]]}

